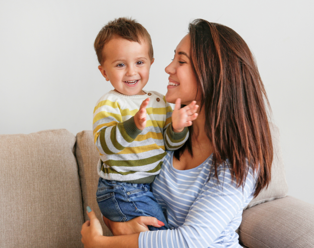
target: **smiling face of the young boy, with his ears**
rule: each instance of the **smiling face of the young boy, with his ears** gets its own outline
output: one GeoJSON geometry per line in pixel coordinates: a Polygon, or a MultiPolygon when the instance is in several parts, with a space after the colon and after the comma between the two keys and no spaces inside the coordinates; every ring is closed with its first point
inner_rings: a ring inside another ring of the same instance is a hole
{"type": "Polygon", "coordinates": [[[105,62],[98,66],[101,74],[110,81],[115,91],[125,95],[145,94],[142,89],[149,78],[149,48],[123,38],[111,39],[103,49],[105,62]]]}

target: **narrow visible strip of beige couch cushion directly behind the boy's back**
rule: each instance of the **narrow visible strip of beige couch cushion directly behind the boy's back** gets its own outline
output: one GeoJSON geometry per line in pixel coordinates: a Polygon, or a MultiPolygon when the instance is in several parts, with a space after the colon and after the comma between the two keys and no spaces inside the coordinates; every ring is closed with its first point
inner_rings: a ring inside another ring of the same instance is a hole
{"type": "Polygon", "coordinates": [[[75,154],[78,163],[79,178],[81,181],[84,221],[89,220],[86,207],[90,206],[100,220],[105,236],[112,236],[110,230],[101,220],[101,213],[96,201],[96,191],[99,175],[97,173],[97,163],[99,153],[93,142],[92,131],[82,131],[76,135],[75,154]]]}

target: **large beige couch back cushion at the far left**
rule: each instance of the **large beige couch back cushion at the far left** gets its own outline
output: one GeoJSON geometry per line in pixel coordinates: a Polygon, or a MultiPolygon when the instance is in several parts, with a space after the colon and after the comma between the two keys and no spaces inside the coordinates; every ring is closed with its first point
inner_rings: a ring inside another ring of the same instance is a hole
{"type": "Polygon", "coordinates": [[[75,137],[0,135],[0,247],[83,247],[75,137]]]}

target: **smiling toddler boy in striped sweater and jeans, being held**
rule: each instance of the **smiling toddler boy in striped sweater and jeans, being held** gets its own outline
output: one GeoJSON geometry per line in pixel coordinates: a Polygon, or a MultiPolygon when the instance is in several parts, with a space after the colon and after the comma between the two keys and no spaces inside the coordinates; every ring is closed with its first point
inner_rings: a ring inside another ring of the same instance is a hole
{"type": "Polygon", "coordinates": [[[193,102],[180,109],[177,100],[172,114],[162,94],[143,90],[154,62],[153,47],[149,33],[135,20],[110,21],[100,30],[94,47],[98,69],[114,87],[94,109],[100,211],[119,222],[153,216],[162,223],[149,230],[169,228],[150,183],[160,172],[165,149],[178,149],[187,140],[187,126],[196,119],[198,106],[193,102]],[[171,114],[176,117],[173,122],[171,114]]]}

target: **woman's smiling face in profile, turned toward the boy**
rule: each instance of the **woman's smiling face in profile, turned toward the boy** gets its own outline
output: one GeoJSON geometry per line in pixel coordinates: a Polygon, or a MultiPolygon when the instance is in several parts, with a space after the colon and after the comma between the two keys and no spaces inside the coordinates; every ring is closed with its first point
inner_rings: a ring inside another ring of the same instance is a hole
{"type": "Polygon", "coordinates": [[[200,104],[200,97],[196,97],[197,83],[191,66],[188,34],[176,47],[175,57],[165,71],[169,74],[168,91],[165,96],[167,102],[175,103],[177,98],[181,98],[181,104],[188,105],[193,100],[200,104]]]}

